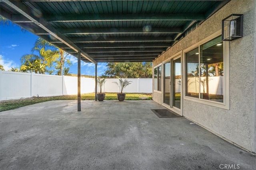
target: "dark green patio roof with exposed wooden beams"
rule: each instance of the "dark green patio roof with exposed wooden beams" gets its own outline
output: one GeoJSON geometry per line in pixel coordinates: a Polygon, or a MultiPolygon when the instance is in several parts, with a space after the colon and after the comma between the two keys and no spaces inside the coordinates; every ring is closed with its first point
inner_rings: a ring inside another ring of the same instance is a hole
{"type": "Polygon", "coordinates": [[[142,62],[229,1],[0,0],[0,15],[84,62],[142,62]]]}

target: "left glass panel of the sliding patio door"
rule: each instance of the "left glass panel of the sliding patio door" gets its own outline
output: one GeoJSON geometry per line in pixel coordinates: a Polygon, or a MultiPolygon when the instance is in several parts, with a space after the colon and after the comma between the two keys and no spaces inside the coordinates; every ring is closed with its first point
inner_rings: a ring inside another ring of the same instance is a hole
{"type": "Polygon", "coordinates": [[[164,64],[164,103],[170,106],[170,81],[171,81],[171,64],[164,64]]]}

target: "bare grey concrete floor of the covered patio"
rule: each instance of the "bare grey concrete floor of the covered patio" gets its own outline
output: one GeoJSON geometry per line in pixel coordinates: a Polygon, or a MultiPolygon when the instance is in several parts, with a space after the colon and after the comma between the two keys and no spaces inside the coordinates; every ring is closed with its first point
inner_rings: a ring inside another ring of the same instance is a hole
{"type": "MultiPolygon", "coordinates": [[[[256,157],[154,101],[50,101],[0,112],[0,169],[252,170],[256,157]],[[228,167],[228,166],[226,166],[228,167]]],[[[254,167],[254,168],[253,168],[254,167]]]]}

